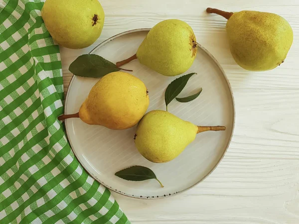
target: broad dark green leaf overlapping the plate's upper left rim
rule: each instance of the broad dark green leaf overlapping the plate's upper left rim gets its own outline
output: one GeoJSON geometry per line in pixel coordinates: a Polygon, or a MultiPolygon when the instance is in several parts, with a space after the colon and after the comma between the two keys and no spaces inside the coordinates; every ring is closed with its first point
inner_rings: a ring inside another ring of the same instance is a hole
{"type": "Polygon", "coordinates": [[[83,54],[72,62],[69,70],[76,76],[99,78],[121,69],[99,55],[83,54]]]}

